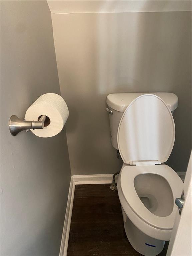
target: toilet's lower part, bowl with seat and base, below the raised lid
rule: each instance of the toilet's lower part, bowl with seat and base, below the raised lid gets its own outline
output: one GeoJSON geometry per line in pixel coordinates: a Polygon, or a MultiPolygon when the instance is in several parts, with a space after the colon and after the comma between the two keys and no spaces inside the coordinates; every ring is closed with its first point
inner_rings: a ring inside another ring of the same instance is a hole
{"type": "Polygon", "coordinates": [[[157,255],[170,240],[175,214],[174,199],[183,182],[169,166],[123,165],[117,182],[126,235],[141,254],[157,255]],[[136,232],[136,230],[140,232],[136,232]],[[133,233],[136,235],[133,236],[133,233]]]}

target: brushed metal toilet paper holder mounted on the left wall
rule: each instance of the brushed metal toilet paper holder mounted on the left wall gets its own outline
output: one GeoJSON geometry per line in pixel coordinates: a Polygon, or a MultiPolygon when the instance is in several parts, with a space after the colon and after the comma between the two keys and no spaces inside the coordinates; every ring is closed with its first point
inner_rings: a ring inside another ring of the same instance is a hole
{"type": "Polygon", "coordinates": [[[50,119],[45,115],[40,116],[38,121],[25,121],[16,115],[12,115],[9,119],[9,131],[11,135],[15,136],[24,130],[43,129],[45,126],[48,126],[49,123],[50,119]]]}

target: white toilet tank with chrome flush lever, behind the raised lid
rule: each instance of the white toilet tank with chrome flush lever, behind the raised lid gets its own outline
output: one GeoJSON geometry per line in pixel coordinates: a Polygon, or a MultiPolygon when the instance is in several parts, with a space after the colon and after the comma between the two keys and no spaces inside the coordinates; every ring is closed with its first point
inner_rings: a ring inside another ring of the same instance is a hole
{"type": "Polygon", "coordinates": [[[137,93],[113,93],[107,95],[107,106],[109,112],[109,123],[110,123],[110,135],[111,135],[111,143],[114,148],[118,149],[117,145],[117,131],[119,127],[119,122],[121,117],[128,107],[128,105],[137,97],[143,94],[154,94],[159,96],[161,99],[165,101],[168,107],[173,114],[173,111],[178,106],[178,97],[174,93],[170,92],[137,92],[137,93]],[[111,110],[111,111],[109,111],[111,110]],[[111,114],[110,114],[111,113],[111,114]]]}

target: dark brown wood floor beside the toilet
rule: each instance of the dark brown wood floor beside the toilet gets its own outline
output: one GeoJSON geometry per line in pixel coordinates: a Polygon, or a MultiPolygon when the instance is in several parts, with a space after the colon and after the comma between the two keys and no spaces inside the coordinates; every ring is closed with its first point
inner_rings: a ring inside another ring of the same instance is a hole
{"type": "MultiPolygon", "coordinates": [[[[168,242],[159,256],[167,247],[168,242]]],[[[93,255],[141,255],[126,237],[118,194],[110,184],[75,186],[67,256],[93,255]]]]}

